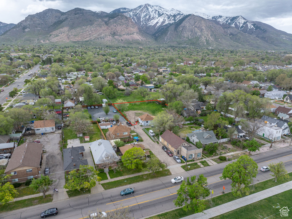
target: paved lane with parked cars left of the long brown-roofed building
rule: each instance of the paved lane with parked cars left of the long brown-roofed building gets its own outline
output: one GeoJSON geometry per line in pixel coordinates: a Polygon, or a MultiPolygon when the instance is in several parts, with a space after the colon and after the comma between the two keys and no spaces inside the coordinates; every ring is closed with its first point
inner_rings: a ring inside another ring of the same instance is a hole
{"type": "MultiPolygon", "coordinates": [[[[126,123],[124,124],[126,125],[126,123]]],[[[143,142],[141,142],[141,144],[143,144],[145,146],[145,148],[150,149],[153,154],[155,154],[155,156],[157,156],[159,158],[159,160],[161,162],[165,162],[168,164],[168,166],[171,165],[176,165],[178,163],[176,163],[176,161],[173,159],[173,157],[170,157],[166,154],[166,152],[164,152],[161,148],[163,146],[163,144],[161,144],[161,142],[159,142],[159,144],[157,144],[156,142],[153,142],[150,137],[143,131],[144,127],[141,127],[139,125],[135,125],[135,128],[133,127],[132,130],[134,130],[135,132],[137,132],[143,139],[143,142]]]]}

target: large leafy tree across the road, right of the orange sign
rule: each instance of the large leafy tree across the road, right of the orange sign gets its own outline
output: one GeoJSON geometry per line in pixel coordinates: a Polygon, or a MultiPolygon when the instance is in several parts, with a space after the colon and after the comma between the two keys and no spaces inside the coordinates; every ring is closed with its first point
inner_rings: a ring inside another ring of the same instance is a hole
{"type": "Polygon", "coordinates": [[[256,178],[257,173],[258,164],[248,155],[242,155],[237,161],[227,164],[220,179],[230,179],[232,181],[231,191],[234,196],[241,196],[242,193],[248,195],[249,186],[253,182],[253,178],[256,178]]]}

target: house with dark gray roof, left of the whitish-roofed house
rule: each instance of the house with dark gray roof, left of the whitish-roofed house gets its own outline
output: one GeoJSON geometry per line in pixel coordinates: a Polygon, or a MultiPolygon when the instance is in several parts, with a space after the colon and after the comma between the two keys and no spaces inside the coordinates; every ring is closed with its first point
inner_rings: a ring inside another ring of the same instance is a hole
{"type": "Polygon", "coordinates": [[[79,170],[80,165],[88,165],[87,159],[84,160],[84,146],[70,147],[63,149],[64,171],[68,174],[71,170],[79,170]]]}

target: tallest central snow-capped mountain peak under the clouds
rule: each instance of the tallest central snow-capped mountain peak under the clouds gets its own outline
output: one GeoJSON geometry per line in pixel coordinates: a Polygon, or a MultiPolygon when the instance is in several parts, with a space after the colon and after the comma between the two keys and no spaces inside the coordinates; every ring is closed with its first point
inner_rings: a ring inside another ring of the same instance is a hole
{"type": "Polygon", "coordinates": [[[144,4],[137,8],[118,8],[110,14],[122,13],[137,23],[142,29],[150,34],[160,27],[171,25],[183,18],[186,14],[176,9],[166,9],[157,5],[144,4]]]}

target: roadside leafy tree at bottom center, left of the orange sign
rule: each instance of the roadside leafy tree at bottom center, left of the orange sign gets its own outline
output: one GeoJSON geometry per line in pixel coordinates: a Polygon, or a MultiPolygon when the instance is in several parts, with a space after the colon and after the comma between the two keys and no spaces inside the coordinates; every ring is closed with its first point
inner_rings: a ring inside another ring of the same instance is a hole
{"type": "Polygon", "coordinates": [[[192,176],[191,180],[187,177],[177,191],[178,197],[173,201],[175,206],[183,206],[184,211],[191,210],[193,213],[203,212],[206,207],[204,199],[210,195],[207,185],[207,178],[203,174],[197,180],[196,176],[192,176]]]}

